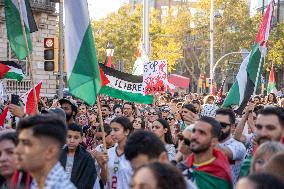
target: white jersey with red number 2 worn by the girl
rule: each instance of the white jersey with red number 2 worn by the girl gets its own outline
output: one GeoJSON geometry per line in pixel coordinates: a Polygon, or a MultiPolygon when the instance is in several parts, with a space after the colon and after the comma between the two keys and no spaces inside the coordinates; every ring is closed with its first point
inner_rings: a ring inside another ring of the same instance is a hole
{"type": "MultiPolygon", "coordinates": [[[[129,188],[132,178],[132,168],[130,162],[126,160],[125,155],[120,156],[116,153],[117,146],[108,149],[108,181],[111,185],[116,185],[117,189],[129,188]],[[114,168],[117,167],[118,171],[115,174],[114,168]],[[117,177],[117,182],[115,182],[113,177],[117,177]],[[116,183],[116,184],[115,184],[116,183]]],[[[107,187],[106,187],[107,188],[107,187]]]]}

